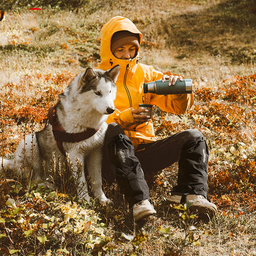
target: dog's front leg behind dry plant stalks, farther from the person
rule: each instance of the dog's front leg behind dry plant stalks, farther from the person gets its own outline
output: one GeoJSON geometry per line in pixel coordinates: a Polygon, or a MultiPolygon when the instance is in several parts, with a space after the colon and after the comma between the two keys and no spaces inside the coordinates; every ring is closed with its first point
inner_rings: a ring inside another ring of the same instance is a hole
{"type": "Polygon", "coordinates": [[[84,157],[79,156],[77,151],[74,153],[69,153],[69,158],[71,163],[73,164],[73,177],[75,183],[78,184],[76,191],[78,193],[78,197],[80,199],[86,199],[87,202],[90,201],[90,196],[88,193],[86,176],[84,173],[84,157]]]}

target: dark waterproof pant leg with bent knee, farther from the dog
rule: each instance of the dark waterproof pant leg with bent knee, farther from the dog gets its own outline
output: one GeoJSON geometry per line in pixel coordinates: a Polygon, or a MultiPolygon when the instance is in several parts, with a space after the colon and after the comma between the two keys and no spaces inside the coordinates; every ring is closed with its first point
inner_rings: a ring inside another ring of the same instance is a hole
{"type": "Polygon", "coordinates": [[[157,142],[138,146],[135,153],[145,173],[153,177],[178,161],[177,194],[201,194],[207,198],[209,151],[206,138],[188,129],[157,142]]]}

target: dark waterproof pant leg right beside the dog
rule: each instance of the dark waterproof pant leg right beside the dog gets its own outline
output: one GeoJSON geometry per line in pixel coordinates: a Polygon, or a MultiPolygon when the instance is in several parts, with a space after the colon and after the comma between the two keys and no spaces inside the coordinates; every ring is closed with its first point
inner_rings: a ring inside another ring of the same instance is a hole
{"type": "Polygon", "coordinates": [[[140,162],[134,154],[134,146],[124,130],[116,123],[108,125],[105,136],[105,152],[103,153],[103,177],[110,172],[106,168],[114,169],[114,176],[121,192],[132,207],[135,203],[149,198],[149,189],[144,178],[140,162]],[[110,159],[111,164],[106,159],[110,159]]]}

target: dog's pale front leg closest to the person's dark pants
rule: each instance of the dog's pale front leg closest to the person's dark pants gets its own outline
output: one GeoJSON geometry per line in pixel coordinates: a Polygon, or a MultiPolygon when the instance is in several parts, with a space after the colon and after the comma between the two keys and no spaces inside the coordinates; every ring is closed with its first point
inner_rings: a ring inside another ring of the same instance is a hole
{"type": "Polygon", "coordinates": [[[97,148],[89,154],[87,170],[94,198],[98,198],[101,204],[111,203],[112,201],[106,198],[102,190],[102,151],[100,149],[97,148]]]}

